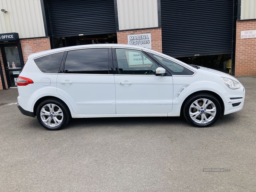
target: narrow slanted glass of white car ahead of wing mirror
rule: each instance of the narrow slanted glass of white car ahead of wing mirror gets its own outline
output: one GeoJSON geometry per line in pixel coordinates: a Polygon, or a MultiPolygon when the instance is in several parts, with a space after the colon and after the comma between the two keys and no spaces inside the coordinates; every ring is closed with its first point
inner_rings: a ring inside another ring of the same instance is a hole
{"type": "MultiPolygon", "coordinates": [[[[152,54],[153,55],[153,54],[152,54]]],[[[191,76],[195,72],[192,70],[187,69],[186,67],[183,67],[180,64],[175,63],[174,61],[171,61],[169,59],[160,57],[158,55],[153,55],[153,57],[159,61],[161,64],[165,65],[169,68],[169,70],[172,71],[172,75],[180,75],[180,76],[191,76]]]]}

